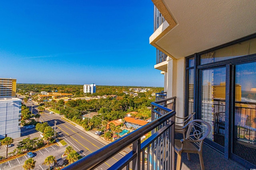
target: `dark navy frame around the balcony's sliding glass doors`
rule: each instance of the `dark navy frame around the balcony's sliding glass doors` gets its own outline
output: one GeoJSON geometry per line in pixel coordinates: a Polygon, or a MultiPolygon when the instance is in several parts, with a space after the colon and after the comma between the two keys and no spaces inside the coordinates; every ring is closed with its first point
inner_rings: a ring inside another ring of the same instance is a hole
{"type": "MultiPolygon", "coordinates": [[[[199,56],[197,56],[199,58],[199,56]]],[[[207,70],[211,68],[223,68],[226,67],[226,107],[225,107],[225,140],[224,147],[210,141],[208,139],[205,140],[205,143],[210,147],[218,150],[219,152],[224,154],[225,158],[231,158],[236,162],[243,164],[246,168],[253,167],[254,165],[250,162],[243,160],[242,158],[236,156],[232,153],[233,150],[233,138],[235,133],[234,127],[234,113],[235,113],[235,74],[236,74],[236,65],[238,64],[246,64],[246,63],[254,63],[256,62],[256,54],[247,55],[243,57],[238,57],[234,59],[228,59],[224,61],[219,61],[216,63],[209,63],[204,65],[196,66],[196,89],[195,92],[195,111],[197,113],[196,119],[201,119],[201,111],[202,111],[202,70],[207,70]]],[[[256,68],[255,68],[256,69],[256,68]]]]}

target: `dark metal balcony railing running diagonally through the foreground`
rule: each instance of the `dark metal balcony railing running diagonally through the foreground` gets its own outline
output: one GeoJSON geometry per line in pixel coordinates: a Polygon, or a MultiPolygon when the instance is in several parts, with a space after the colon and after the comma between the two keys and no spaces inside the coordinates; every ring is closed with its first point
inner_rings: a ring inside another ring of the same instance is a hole
{"type": "Polygon", "coordinates": [[[174,170],[175,98],[152,102],[153,121],[66,166],[63,170],[95,169],[130,145],[132,151],[111,165],[109,170],[174,170]],[[142,142],[141,137],[150,132],[152,135],[142,142]]]}

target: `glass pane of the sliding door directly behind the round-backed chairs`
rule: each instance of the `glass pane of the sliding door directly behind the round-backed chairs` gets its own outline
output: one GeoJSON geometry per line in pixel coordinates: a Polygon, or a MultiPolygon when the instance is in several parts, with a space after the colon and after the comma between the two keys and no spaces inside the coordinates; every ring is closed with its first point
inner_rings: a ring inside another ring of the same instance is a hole
{"type": "Polygon", "coordinates": [[[220,145],[225,138],[226,67],[201,70],[201,119],[212,125],[207,139],[220,145]]]}

